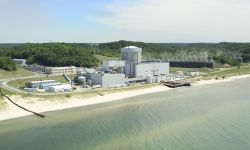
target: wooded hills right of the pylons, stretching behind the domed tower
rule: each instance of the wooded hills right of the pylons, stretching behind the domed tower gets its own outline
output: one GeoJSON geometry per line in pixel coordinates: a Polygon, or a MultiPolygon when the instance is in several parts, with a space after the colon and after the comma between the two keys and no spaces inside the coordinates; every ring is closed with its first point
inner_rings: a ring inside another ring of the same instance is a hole
{"type": "MultiPolygon", "coordinates": [[[[120,56],[120,48],[134,45],[143,49],[145,60],[211,60],[225,56],[234,58],[241,56],[244,62],[250,62],[250,43],[143,43],[118,41],[99,45],[100,54],[104,56],[120,56]]],[[[219,61],[218,61],[219,62],[219,61]]],[[[229,62],[232,62],[231,60],[229,62]]],[[[220,62],[219,62],[220,63],[220,62]]],[[[234,62],[233,62],[234,63],[234,62]]]]}

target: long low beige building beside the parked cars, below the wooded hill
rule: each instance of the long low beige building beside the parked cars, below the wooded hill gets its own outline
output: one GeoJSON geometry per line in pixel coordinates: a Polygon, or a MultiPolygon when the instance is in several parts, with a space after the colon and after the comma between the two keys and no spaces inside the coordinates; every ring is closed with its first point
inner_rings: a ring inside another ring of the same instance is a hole
{"type": "Polygon", "coordinates": [[[46,74],[55,74],[55,75],[63,75],[63,74],[76,74],[76,67],[47,67],[45,69],[46,74]]]}

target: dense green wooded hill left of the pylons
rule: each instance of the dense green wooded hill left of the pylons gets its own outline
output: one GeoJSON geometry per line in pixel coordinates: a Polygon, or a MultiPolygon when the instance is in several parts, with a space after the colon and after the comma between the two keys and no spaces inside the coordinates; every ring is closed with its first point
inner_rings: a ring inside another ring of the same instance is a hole
{"type": "Polygon", "coordinates": [[[99,63],[90,49],[65,43],[27,43],[11,48],[0,48],[0,56],[23,58],[27,59],[29,64],[45,66],[96,67],[99,63]]]}

